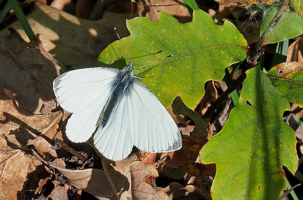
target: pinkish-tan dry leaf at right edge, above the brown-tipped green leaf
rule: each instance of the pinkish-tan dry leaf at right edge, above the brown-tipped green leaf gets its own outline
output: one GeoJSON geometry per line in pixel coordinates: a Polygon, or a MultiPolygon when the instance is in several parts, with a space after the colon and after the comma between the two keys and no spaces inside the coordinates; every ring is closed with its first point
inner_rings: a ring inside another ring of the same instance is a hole
{"type": "Polygon", "coordinates": [[[303,63],[303,37],[293,42],[287,51],[286,62],[301,62],[303,63]]]}

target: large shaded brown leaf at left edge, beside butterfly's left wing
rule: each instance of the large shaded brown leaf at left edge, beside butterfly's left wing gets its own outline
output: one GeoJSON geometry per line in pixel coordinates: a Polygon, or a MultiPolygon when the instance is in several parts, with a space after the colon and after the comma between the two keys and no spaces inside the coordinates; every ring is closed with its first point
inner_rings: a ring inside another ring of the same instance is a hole
{"type": "Polygon", "coordinates": [[[60,66],[37,42],[17,43],[0,52],[1,85],[14,93],[18,106],[49,114],[56,107],[52,81],[60,66]]]}

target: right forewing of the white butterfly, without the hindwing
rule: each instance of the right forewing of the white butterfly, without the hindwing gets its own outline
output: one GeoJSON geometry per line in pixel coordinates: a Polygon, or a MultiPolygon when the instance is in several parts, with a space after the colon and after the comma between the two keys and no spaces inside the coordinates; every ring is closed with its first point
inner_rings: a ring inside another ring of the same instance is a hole
{"type": "Polygon", "coordinates": [[[147,152],[176,151],[182,147],[178,126],[154,93],[134,79],[128,101],[132,140],[147,152]]]}

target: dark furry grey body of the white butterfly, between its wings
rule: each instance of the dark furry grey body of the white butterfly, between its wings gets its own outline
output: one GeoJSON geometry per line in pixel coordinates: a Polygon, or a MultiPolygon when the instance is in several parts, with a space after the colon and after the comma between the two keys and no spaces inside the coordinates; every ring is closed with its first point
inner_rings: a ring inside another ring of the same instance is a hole
{"type": "MultiPolygon", "coordinates": [[[[101,123],[100,127],[103,129],[108,122],[109,117],[116,111],[116,108],[124,95],[128,95],[131,92],[129,86],[134,79],[133,62],[126,65],[125,68],[119,70],[117,78],[112,82],[112,93],[108,98],[108,101],[102,110],[100,115],[101,123]]],[[[99,120],[100,120],[99,119],[99,120]]]]}

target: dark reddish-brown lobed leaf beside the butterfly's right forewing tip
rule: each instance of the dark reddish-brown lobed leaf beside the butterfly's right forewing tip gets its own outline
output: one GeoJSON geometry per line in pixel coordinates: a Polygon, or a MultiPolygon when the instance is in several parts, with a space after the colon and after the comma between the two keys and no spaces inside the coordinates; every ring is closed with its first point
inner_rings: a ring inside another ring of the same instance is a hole
{"type": "Polygon", "coordinates": [[[194,138],[186,136],[185,139],[182,139],[182,148],[180,150],[168,153],[171,160],[166,161],[166,163],[174,168],[184,166],[191,176],[213,174],[214,171],[212,169],[214,167],[212,167],[212,164],[196,163],[199,152],[207,141],[205,136],[203,138],[201,136],[200,139],[201,141],[197,142],[194,138]]]}

